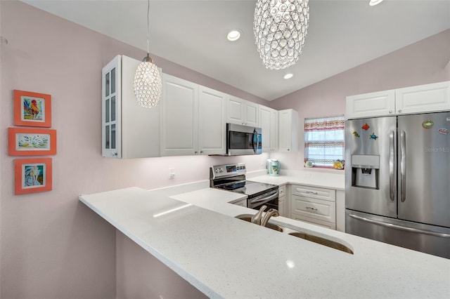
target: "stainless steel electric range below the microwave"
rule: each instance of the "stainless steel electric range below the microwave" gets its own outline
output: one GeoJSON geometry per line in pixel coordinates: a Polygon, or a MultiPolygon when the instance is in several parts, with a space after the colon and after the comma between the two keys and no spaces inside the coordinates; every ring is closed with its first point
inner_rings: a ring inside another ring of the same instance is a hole
{"type": "Polygon", "coordinates": [[[261,206],[278,210],[278,185],[252,182],[245,179],[244,163],[210,167],[210,187],[245,194],[247,207],[259,210],[261,206]]]}

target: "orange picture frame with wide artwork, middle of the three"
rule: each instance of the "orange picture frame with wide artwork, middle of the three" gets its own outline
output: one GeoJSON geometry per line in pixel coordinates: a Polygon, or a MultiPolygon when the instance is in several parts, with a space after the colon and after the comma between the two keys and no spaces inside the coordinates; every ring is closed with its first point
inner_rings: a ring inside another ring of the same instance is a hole
{"type": "Polygon", "coordinates": [[[8,128],[10,156],[56,154],[56,130],[48,128],[8,128]]]}

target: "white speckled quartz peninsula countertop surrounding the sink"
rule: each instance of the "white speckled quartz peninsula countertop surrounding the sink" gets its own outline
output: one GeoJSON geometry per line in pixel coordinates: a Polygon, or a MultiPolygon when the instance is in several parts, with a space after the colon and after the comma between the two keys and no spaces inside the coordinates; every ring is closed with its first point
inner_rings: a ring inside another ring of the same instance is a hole
{"type": "MultiPolygon", "coordinates": [[[[283,180],[269,178],[276,179],[283,180]]],[[[131,187],[79,199],[210,298],[450,296],[450,260],[288,218],[271,220],[340,241],[354,254],[338,251],[238,220],[234,216],[255,213],[229,204],[245,197],[199,186],[180,194],[131,187]]]]}

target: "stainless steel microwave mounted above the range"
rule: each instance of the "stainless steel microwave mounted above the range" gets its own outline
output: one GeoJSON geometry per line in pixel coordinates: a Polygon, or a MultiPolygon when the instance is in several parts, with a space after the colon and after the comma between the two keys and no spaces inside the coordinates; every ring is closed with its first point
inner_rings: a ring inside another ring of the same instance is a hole
{"type": "Polygon", "coordinates": [[[262,154],[262,130],[252,126],[226,124],[226,154],[262,154]]]}

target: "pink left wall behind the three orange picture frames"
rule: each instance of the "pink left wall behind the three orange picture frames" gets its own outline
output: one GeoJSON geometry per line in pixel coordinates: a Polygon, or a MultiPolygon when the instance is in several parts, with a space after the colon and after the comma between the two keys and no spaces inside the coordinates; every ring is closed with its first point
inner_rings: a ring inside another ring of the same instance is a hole
{"type": "MultiPolygon", "coordinates": [[[[207,180],[208,168],[258,157],[101,157],[101,68],[117,54],[145,52],[19,1],[0,1],[1,35],[1,298],[115,298],[115,229],[78,201],[122,187],[152,189],[207,180]],[[53,191],[14,195],[7,128],[13,126],[13,90],[52,95],[53,191]],[[191,173],[192,166],[198,171],[191,173]],[[176,178],[169,180],[169,167],[176,178]]],[[[255,102],[265,102],[172,62],[164,72],[255,102]]]]}

